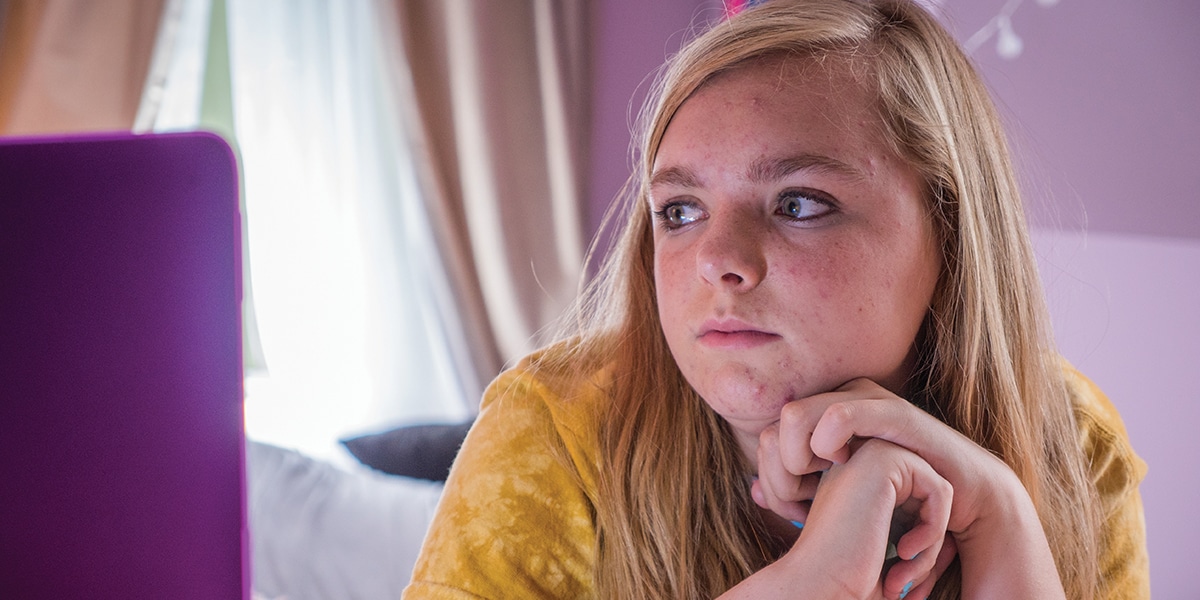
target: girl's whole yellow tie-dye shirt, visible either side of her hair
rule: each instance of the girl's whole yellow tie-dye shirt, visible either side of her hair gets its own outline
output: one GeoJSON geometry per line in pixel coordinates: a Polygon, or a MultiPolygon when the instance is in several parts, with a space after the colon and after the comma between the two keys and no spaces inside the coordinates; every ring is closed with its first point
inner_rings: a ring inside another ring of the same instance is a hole
{"type": "MultiPolygon", "coordinates": [[[[1146,466],[1104,394],[1073,368],[1067,376],[1108,520],[1103,598],[1150,598],[1138,493],[1146,466]]],[[[595,598],[598,451],[589,424],[604,377],[534,372],[527,359],[488,386],[406,600],[595,598]]]]}

